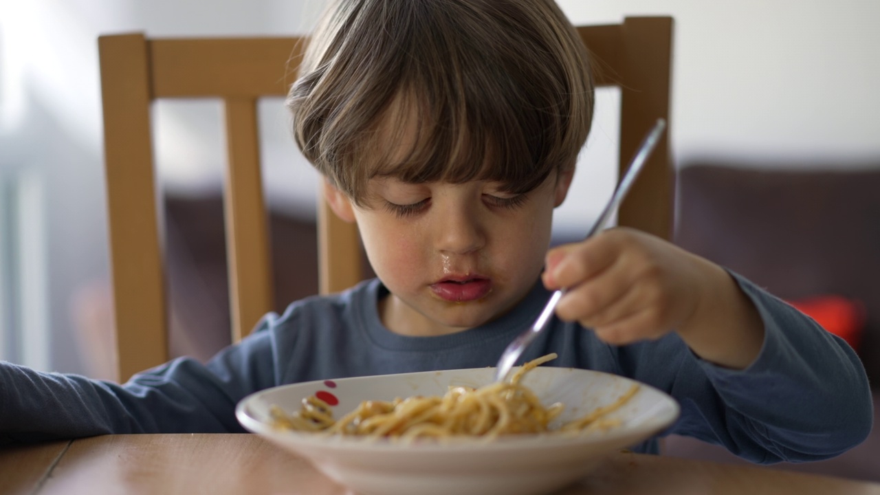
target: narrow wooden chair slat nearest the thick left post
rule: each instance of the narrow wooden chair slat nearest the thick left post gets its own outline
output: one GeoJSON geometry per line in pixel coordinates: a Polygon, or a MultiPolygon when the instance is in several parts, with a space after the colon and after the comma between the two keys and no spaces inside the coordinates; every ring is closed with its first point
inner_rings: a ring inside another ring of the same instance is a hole
{"type": "Polygon", "coordinates": [[[272,309],[268,219],[260,180],[256,100],[224,100],[227,159],[224,210],[232,341],[272,309]]]}

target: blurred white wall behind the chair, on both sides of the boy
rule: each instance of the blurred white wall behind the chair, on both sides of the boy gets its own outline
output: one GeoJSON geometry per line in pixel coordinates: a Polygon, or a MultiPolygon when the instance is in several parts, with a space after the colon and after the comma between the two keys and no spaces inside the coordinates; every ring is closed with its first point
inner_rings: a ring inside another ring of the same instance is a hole
{"type": "MultiPolygon", "coordinates": [[[[47,367],[84,371],[72,337],[71,298],[79,287],[106,283],[108,273],[97,36],[303,33],[320,4],[0,0],[0,184],[16,183],[25,172],[28,181],[42,181],[44,226],[32,227],[48,239],[43,311],[53,352],[47,367]]],[[[624,14],[676,18],[671,147],[679,163],[708,156],[803,166],[880,163],[880,30],[874,27],[880,3],[874,0],[560,4],[576,24],[619,22],[624,14]]],[[[599,105],[583,164],[612,157],[616,146],[613,93],[603,94],[599,105]]],[[[286,136],[280,101],[260,108],[270,130],[263,138],[269,195],[308,214],[314,175],[286,136]]],[[[217,112],[212,102],[156,108],[157,155],[168,187],[198,192],[220,181],[220,129],[205,123],[217,112]]],[[[582,168],[578,181],[600,187],[595,195],[569,198],[559,229],[583,232],[585,218],[612,188],[611,175],[582,168]]]]}

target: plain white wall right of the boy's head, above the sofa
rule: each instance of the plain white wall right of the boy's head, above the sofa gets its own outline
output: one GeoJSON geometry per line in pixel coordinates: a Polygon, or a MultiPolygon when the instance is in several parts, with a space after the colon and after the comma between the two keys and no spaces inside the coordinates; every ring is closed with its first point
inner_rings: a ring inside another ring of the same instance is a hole
{"type": "MultiPolygon", "coordinates": [[[[557,0],[575,25],[625,15],[675,18],[671,152],[773,166],[880,166],[880,2],[876,0],[557,0]]],[[[613,95],[555,225],[585,232],[615,177],[613,95]],[[611,108],[609,108],[611,107],[611,108]],[[596,186],[590,189],[590,186],[596,186]],[[578,226],[580,225],[580,226],[578,226]]]]}

